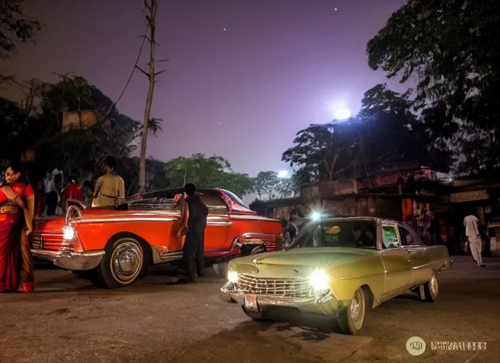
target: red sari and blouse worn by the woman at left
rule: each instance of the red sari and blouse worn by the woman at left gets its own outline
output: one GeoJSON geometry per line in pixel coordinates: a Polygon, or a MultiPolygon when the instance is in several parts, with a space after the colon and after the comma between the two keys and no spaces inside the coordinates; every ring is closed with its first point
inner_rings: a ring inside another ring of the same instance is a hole
{"type": "MultiPolygon", "coordinates": [[[[24,182],[14,183],[11,188],[25,201],[34,196],[33,188],[24,182]]],[[[21,233],[24,222],[21,208],[9,201],[0,189],[0,292],[16,292],[21,284],[21,242],[24,240],[21,233]]],[[[33,281],[28,281],[28,284],[27,290],[33,291],[33,281]]]]}

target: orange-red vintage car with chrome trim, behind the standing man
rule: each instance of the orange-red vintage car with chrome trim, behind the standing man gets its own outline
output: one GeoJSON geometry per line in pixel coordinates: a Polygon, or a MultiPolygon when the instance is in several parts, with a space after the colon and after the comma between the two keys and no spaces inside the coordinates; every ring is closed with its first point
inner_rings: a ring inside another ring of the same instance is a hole
{"type": "MultiPolygon", "coordinates": [[[[257,216],[231,191],[198,191],[209,208],[207,266],[281,248],[280,220],[257,216]]],[[[104,287],[130,285],[146,276],[152,264],[182,259],[180,193],[182,189],[144,194],[124,208],[70,206],[65,217],[36,220],[31,251],[104,287]]]]}

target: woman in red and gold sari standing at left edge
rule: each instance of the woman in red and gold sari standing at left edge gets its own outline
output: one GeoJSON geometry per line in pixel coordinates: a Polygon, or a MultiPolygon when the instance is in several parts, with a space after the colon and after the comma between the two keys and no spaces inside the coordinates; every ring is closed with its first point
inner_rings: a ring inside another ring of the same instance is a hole
{"type": "Polygon", "coordinates": [[[28,237],[33,231],[35,196],[11,165],[0,187],[0,292],[33,292],[33,256],[28,237]],[[21,255],[21,258],[20,258],[21,255]]]}

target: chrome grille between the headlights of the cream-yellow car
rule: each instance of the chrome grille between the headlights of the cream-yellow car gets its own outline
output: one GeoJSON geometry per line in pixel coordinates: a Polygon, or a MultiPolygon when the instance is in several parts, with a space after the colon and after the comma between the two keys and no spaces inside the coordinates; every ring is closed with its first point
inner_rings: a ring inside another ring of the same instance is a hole
{"type": "Polygon", "coordinates": [[[244,294],[307,298],[312,295],[308,279],[259,279],[246,274],[238,276],[234,284],[237,291],[244,294]]]}

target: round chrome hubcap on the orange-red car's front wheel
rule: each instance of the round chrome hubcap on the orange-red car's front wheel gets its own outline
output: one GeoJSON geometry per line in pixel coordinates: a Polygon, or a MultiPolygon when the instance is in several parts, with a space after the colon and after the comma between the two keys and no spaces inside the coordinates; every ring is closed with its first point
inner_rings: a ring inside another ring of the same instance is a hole
{"type": "Polygon", "coordinates": [[[121,284],[130,284],[141,272],[143,265],[142,248],[129,238],[116,242],[111,257],[111,272],[121,284]]]}

